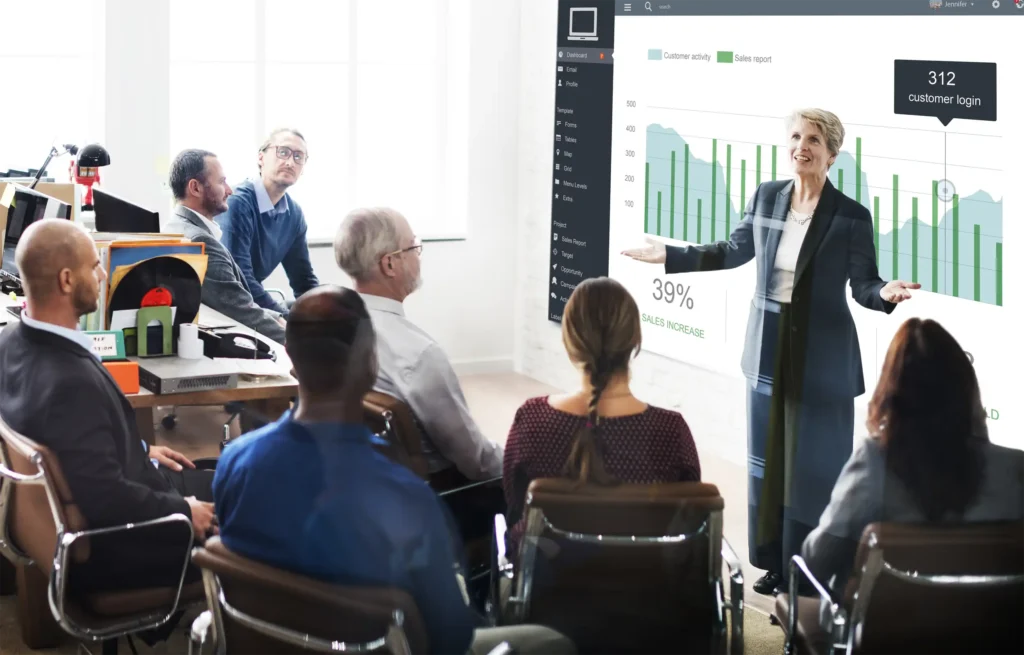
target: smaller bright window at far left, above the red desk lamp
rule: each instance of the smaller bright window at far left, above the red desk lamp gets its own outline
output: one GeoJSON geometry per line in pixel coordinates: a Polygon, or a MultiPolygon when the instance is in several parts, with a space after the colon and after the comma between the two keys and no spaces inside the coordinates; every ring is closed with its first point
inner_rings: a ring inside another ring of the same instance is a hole
{"type": "MultiPolygon", "coordinates": [[[[51,145],[102,142],[102,0],[15,2],[3,10],[0,172],[39,168],[51,145]],[[16,129],[14,129],[16,128],[16,129]]],[[[69,158],[48,175],[68,181],[69,158]]]]}

